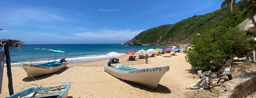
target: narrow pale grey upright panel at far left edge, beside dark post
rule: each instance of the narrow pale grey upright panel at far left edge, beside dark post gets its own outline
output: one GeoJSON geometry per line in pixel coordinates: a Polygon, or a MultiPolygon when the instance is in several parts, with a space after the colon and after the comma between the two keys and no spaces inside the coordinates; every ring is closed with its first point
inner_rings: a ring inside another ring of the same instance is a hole
{"type": "Polygon", "coordinates": [[[3,74],[4,74],[4,52],[0,52],[0,94],[2,94],[2,83],[3,83],[3,74]]]}

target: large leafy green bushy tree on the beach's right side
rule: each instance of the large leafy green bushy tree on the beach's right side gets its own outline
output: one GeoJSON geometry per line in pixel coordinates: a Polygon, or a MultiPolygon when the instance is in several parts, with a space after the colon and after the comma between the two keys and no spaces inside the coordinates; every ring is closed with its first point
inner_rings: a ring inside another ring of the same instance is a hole
{"type": "Polygon", "coordinates": [[[223,26],[211,29],[200,36],[194,36],[194,49],[187,52],[186,61],[192,68],[211,70],[223,64],[231,56],[244,57],[248,50],[255,48],[251,36],[237,28],[223,26]]]}

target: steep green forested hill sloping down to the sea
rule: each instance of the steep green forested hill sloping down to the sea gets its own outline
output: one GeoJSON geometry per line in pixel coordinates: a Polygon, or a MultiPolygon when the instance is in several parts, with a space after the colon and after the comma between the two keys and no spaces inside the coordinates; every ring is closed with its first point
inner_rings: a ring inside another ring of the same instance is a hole
{"type": "MultiPolygon", "coordinates": [[[[142,31],[127,43],[149,45],[176,45],[190,43],[195,34],[202,34],[216,26],[235,27],[245,20],[241,11],[235,8],[231,14],[230,8],[219,10],[205,15],[194,15],[175,24],[166,24],[142,31]]],[[[126,44],[127,44],[126,43],[126,44]]]]}

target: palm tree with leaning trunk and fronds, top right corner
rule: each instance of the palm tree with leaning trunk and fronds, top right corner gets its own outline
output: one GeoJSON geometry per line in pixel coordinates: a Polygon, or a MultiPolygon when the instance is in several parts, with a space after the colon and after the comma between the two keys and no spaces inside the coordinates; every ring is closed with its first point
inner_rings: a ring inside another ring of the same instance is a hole
{"type": "MultiPolygon", "coordinates": [[[[246,8],[246,11],[248,12],[248,15],[250,17],[250,19],[252,20],[252,23],[256,29],[256,22],[253,18],[253,15],[252,15],[252,12],[250,11],[250,8],[249,8],[249,5],[248,4],[255,4],[256,3],[256,0],[241,0],[244,5],[245,5],[245,8],[246,8]]],[[[233,11],[233,7],[234,7],[234,4],[235,4],[235,0],[223,0],[223,2],[221,3],[220,7],[225,7],[225,6],[231,6],[230,7],[230,10],[231,12],[233,11]]]]}

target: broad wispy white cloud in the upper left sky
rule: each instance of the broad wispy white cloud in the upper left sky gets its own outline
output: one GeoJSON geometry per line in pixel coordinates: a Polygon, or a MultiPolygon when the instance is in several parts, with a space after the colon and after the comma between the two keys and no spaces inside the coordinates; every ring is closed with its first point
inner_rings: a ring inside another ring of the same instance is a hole
{"type": "Polygon", "coordinates": [[[44,11],[36,8],[22,8],[22,9],[8,9],[3,10],[0,18],[5,25],[22,25],[29,22],[52,22],[66,21],[61,16],[52,14],[51,12],[44,11]]]}

